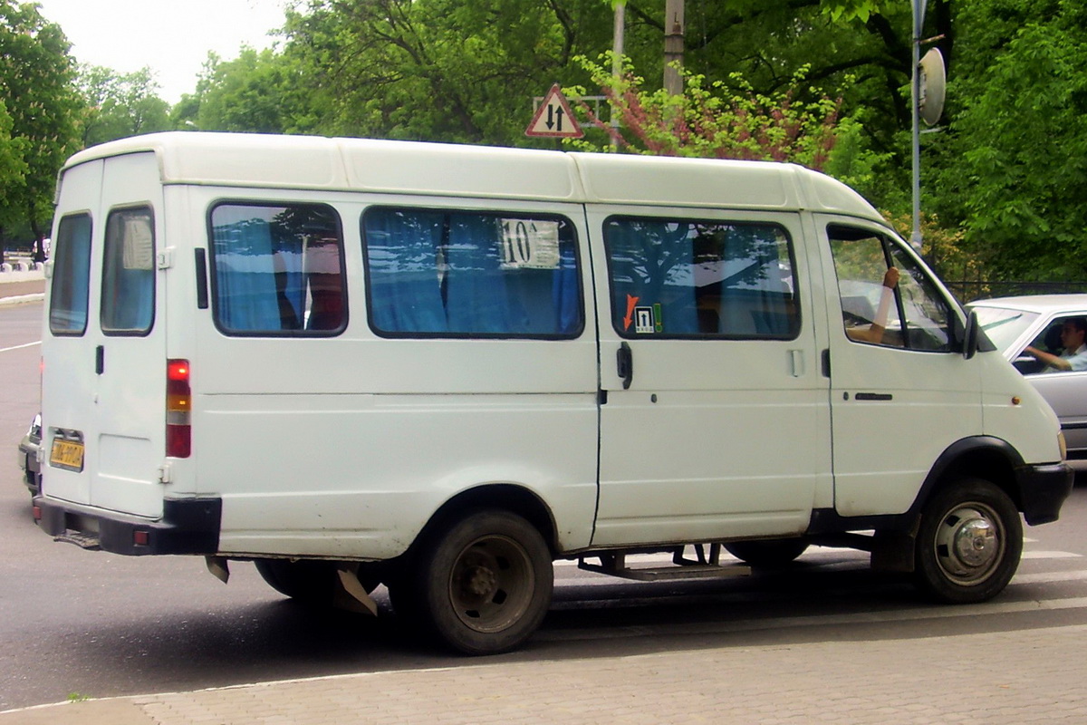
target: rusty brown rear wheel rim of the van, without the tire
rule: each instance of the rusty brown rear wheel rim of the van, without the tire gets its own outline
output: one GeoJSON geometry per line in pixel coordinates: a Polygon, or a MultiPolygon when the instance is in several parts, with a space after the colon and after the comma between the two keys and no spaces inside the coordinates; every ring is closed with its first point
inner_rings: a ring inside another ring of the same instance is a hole
{"type": "Polygon", "coordinates": [[[535,589],[528,551],[508,536],[484,536],[464,547],[449,576],[457,617],[480,633],[501,632],[520,621],[535,589]]]}

